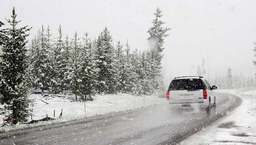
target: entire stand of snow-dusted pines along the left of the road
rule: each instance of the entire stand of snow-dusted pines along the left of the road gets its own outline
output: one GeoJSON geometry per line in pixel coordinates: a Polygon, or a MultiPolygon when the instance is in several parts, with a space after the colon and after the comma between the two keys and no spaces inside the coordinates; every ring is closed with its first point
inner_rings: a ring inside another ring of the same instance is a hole
{"type": "MultiPolygon", "coordinates": [[[[95,93],[152,94],[161,89],[161,60],[164,38],[170,29],[163,27],[161,10],[156,9],[148,30],[149,50],[138,51],[128,44],[114,43],[105,29],[97,38],[77,32],[62,35],[61,25],[54,38],[49,26],[35,35],[27,49],[28,26],[17,28],[13,8],[10,29],[0,30],[0,115],[17,123],[29,115],[28,91],[72,93],[75,100],[91,100],[95,93]],[[116,46],[116,47],[115,47],[116,46]]],[[[0,27],[4,25],[0,21],[0,27]]],[[[164,88],[164,87],[163,87],[164,88]]]]}

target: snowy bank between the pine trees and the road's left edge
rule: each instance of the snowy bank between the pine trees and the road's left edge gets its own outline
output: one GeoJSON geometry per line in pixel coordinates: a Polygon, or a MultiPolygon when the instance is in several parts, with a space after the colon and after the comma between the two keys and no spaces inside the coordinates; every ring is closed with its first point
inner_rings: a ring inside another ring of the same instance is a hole
{"type": "MultiPolygon", "coordinates": [[[[53,123],[61,123],[71,120],[78,120],[82,118],[88,118],[91,116],[103,115],[113,112],[133,110],[142,107],[148,107],[153,104],[160,104],[166,102],[165,98],[159,98],[156,96],[146,96],[145,95],[145,105],[144,105],[144,96],[133,96],[130,94],[107,94],[107,95],[97,95],[94,97],[94,101],[86,101],[86,115],[84,102],[75,102],[69,99],[64,99],[63,97],[48,97],[44,98],[40,94],[33,94],[30,96],[31,99],[34,99],[33,108],[33,120],[38,120],[46,117],[48,114],[49,117],[55,118],[61,113],[63,109],[62,118],[48,121],[40,122],[34,124],[18,124],[16,126],[4,126],[0,127],[0,132],[17,130],[17,129],[26,129],[34,126],[42,126],[53,123]]],[[[3,116],[0,115],[0,118],[3,116]]],[[[30,117],[29,117],[30,121],[30,117]]],[[[1,123],[0,123],[1,124],[1,123]]]]}

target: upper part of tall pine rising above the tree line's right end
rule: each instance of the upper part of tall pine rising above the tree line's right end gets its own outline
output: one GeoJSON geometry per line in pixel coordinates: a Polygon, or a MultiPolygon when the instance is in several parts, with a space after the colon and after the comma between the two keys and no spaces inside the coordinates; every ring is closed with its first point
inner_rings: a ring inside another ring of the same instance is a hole
{"type": "Polygon", "coordinates": [[[168,27],[163,27],[165,23],[160,18],[163,16],[162,11],[157,7],[154,13],[155,19],[152,21],[153,26],[149,28],[147,33],[149,37],[147,38],[152,58],[156,59],[156,64],[161,66],[161,60],[163,55],[161,54],[164,50],[164,38],[168,36],[167,31],[171,30],[168,27]]]}

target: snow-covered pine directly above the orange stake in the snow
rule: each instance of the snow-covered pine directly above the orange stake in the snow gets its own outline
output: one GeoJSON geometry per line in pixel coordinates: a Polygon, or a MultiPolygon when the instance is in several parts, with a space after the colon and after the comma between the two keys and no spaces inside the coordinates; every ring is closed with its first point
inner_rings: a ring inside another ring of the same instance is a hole
{"type": "Polygon", "coordinates": [[[95,94],[95,87],[97,85],[98,70],[95,64],[95,54],[92,47],[91,40],[88,38],[88,33],[85,33],[83,38],[84,45],[81,50],[81,71],[80,78],[82,84],[80,87],[80,94],[84,100],[92,100],[92,95],[95,94]]]}

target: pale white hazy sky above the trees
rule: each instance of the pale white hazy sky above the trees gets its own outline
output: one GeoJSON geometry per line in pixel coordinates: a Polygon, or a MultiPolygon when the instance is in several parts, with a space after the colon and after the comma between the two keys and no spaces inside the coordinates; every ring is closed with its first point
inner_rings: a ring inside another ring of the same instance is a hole
{"type": "Polygon", "coordinates": [[[166,75],[196,75],[196,66],[204,58],[205,69],[208,60],[211,62],[212,77],[224,75],[228,67],[233,74],[243,71],[254,77],[255,4],[255,0],[0,0],[0,20],[10,18],[15,6],[20,26],[33,27],[29,39],[42,24],[49,25],[54,36],[61,24],[64,35],[72,37],[77,31],[82,37],[89,32],[92,38],[106,26],[115,43],[120,40],[125,44],[128,38],[133,49],[144,50],[148,49],[147,30],[159,7],[165,26],[172,28],[164,44],[166,75]]]}

